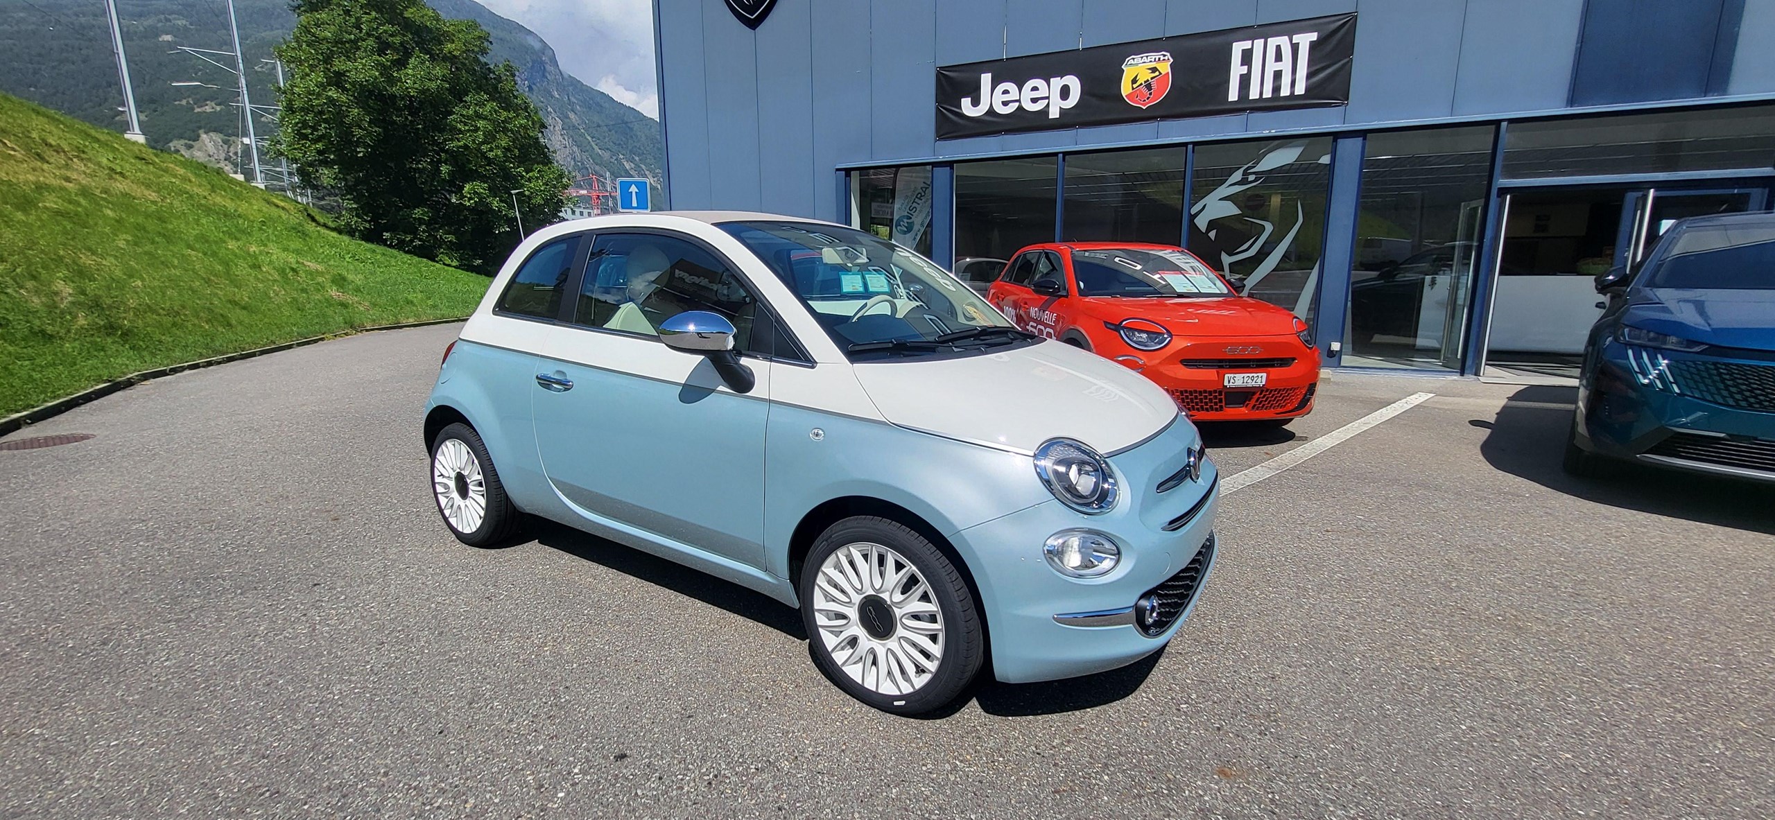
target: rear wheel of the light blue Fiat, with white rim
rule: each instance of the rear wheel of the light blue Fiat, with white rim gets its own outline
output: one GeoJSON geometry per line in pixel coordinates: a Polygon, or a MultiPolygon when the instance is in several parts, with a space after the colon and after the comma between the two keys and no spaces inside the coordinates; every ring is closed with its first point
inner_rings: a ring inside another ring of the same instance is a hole
{"type": "Polygon", "coordinates": [[[469,547],[495,547],[524,524],[481,435],[462,422],[431,440],[431,501],[451,534],[469,547]]]}

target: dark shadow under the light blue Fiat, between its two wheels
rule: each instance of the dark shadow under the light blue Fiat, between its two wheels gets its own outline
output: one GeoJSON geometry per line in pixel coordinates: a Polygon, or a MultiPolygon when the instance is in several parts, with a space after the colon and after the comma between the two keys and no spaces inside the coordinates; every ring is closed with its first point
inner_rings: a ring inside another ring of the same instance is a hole
{"type": "Polygon", "coordinates": [[[623,575],[646,580],[657,587],[696,598],[710,607],[726,609],[740,618],[770,627],[795,641],[806,641],[808,630],[801,612],[785,607],[776,598],[754,593],[744,586],[717,579],[699,570],[667,561],[637,548],[598,538],[589,532],[532,518],[531,532],[536,543],[568,556],[607,566],[623,575]]]}

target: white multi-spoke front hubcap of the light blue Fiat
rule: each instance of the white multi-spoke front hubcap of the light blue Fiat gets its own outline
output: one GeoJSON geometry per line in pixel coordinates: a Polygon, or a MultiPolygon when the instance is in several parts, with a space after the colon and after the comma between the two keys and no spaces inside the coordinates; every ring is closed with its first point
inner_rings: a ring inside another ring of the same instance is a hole
{"type": "Polygon", "coordinates": [[[813,619],[838,667],[864,689],[911,694],[943,664],[943,611],[905,556],[879,543],[840,547],[820,564],[813,619]]]}

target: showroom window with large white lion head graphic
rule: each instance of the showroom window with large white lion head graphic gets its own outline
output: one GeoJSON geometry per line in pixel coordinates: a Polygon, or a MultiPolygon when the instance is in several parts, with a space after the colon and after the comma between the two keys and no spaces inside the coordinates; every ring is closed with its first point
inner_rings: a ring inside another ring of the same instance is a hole
{"type": "Polygon", "coordinates": [[[1189,250],[1314,323],[1331,137],[1196,147],[1189,250]]]}

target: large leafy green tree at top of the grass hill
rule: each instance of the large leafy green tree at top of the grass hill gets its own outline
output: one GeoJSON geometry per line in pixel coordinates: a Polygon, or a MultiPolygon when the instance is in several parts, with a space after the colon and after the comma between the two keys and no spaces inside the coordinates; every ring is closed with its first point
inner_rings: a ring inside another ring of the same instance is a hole
{"type": "Polygon", "coordinates": [[[568,176],[488,35],[422,0],[296,0],[277,151],[339,193],[357,238],[492,273],[554,222],[568,176]]]}

